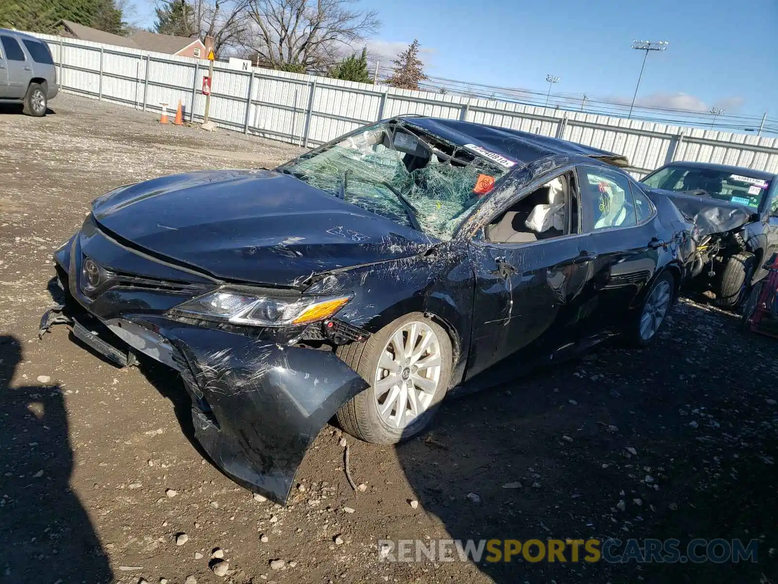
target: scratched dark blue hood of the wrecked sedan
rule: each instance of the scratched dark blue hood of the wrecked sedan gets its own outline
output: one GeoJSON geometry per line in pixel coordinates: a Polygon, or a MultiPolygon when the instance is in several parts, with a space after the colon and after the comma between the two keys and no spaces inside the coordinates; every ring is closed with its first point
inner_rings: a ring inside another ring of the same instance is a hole
{"type": "Polygon", "coordinates": [[[270,171],[156,178],[100,197],[93,215],[137,248],[224,280],[278,286],[430,245],[418,231],[270,171]]]}

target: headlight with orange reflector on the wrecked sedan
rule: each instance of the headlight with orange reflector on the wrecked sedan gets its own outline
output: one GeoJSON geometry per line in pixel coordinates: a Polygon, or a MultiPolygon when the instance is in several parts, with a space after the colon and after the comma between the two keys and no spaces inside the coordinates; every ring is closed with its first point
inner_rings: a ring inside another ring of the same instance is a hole
{"type": "Polygon", "coordinates": [[[171,308],[170,315],[210,318],[236,325],[307,325],[334,315],[351,299],[352,294],[272,297],[223,287],[171,308]]]}

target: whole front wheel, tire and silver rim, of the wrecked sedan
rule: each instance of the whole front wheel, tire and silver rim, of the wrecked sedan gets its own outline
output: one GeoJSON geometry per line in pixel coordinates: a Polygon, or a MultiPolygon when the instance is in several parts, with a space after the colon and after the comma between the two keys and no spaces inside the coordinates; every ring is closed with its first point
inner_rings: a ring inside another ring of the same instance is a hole
{"type": "Polygon", "coordinates": [[[365,343],[339,347],[338,357],[371,384],[338,410],[338,424],[373,444],[396,444],[422,431],[451,377],[449,336],[420,313],[398,318],[365,343]]]}

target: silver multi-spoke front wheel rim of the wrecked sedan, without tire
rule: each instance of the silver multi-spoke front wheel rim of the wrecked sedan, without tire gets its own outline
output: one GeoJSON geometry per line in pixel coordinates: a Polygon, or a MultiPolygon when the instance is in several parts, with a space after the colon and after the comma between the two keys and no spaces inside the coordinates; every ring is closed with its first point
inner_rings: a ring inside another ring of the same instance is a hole
{"type": "Polygon", "coordinates": [[[425,322],[408,322],[394,331],[381,351],[373,380],[381,420],[401,429],[429,410],[442,363],[440,339],[425,322]]]}

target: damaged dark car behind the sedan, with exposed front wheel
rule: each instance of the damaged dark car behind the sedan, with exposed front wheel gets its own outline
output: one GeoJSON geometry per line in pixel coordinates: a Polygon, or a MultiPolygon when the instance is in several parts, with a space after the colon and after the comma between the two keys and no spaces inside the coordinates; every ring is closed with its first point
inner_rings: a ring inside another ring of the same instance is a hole
{"type": "Polygon", "coordinates": [[[674,162],[641,182],[661,189],[696,224],[690,282],[738,308],[767,274],[762,264],[778,252],[776,175],[750,168],[674,162]]]}

